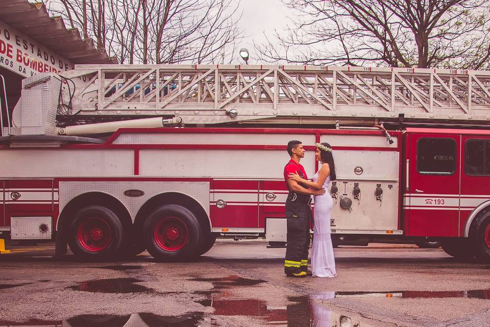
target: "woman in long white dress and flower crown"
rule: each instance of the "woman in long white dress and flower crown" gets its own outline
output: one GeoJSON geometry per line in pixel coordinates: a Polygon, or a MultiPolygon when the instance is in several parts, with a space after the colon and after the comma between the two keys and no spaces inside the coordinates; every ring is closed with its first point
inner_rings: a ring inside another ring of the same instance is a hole
{"type": "Polygon", "coordinates": [[[335,165],[332,148],[328,143],[315,144],[316,160],[322,166],[313,177],[313,181],[301,178],[298,174],[290,174],[289,178],[302,182],[313,189],[325,189],[324,195],[314,196],[314,226],[313,226],[313,253],[311,254],[311,271],[314,277],[335,277],[335,258],[333,255],[332,239],[330,236],[330,213],[332,211],[332,197],[327,188],[331,180],[335,180],[335,165]]]}

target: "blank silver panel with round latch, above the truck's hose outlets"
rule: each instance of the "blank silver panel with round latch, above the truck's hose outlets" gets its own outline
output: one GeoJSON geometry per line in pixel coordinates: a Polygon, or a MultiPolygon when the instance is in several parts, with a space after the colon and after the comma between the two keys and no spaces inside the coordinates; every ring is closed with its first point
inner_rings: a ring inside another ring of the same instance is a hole
{"type": "Polygon", "coordinates": [[[334,150],[337,179],[398,181],[399,156],[398,152],[390,151],[334,150]],[[363,170],[360,175],[354,173],[354,169],[358,166],[363,170]]]}

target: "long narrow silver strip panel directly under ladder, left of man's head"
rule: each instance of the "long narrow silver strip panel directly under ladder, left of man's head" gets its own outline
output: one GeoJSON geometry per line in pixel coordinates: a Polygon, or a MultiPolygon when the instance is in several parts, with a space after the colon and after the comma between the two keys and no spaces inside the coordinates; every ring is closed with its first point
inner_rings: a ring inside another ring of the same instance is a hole
{"type": "Polygon", "coordinates": [[[306,145],[315,143],[314,135],[305,134],[229,134],[229,133],[162,133],[122,134],[114,144],[233,144],[287,145],[298,139],[306,145]]]}

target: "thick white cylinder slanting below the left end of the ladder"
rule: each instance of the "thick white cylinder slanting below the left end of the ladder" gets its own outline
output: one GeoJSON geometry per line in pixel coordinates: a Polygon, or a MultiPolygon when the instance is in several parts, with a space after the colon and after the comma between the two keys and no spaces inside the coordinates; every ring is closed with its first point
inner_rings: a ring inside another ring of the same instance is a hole
{"type": "Polygon", "coordinates": [[[161,117],[132,119],[127,121],[107,122],[107,123],[95,123],[86,125],[74,125],[66,126],[58,129],[60,135],[87,135],[87,134],[102,134],[115,132],[119,128],[157,128],[164,127],[169,124],[179,124],[181,122],[180,117],[172,119],[163,119],[161,117]]]}

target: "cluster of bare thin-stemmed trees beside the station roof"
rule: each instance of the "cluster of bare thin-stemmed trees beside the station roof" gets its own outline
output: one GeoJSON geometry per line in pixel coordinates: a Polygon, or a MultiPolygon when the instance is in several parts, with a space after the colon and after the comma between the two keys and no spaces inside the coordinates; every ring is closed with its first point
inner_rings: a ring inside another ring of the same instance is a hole
{"type": "Polygon", "coordinates": [[[224,53],[243,39],[236,0],[52,1],[62,5],[56,13],[75,27],[88,26],[97,47],[121,63],[211,63],[223,57],[231,62],[224,53]]]}

